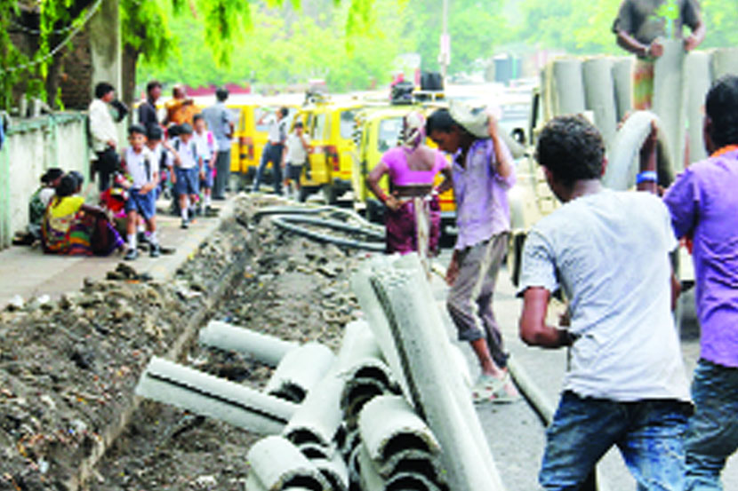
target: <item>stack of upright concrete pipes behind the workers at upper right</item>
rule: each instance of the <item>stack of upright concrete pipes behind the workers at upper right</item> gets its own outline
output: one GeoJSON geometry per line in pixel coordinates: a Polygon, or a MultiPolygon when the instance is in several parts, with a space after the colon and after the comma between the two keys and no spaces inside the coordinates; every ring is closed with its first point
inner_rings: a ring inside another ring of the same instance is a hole
{"type": "MultiPolygon", "coordinates": [[[[588,114],[612,151],[618,124],[632,111],[633,57],[562,58],[541,71],[544,119],[588,114]]],[[[704,99],[710,83],[738,74],[738,48],[686,53],[678,40],[664,41],[654,67],[654,114],[674,173],[706,157],[702,142],[704,99]],[[688,135],[688,138],[686,136],[688,135]]],[[[661,170],[661,167],[660,167],[661,170]]],[[[662,184],[668,184],[662,182],[662,184]]]]}

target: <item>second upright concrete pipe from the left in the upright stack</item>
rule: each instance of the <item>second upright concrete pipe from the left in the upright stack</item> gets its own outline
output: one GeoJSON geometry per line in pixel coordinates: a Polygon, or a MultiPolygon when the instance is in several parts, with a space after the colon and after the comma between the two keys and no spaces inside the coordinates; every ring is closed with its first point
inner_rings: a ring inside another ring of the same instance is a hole
{"type": "Polygon", "coordinates": [[[617,131],[617,103],[613,82],[613,61],[608,58],[587,59],[582,65],[585,107],[595,115],[605,146],[610,147],[617,131]]]}

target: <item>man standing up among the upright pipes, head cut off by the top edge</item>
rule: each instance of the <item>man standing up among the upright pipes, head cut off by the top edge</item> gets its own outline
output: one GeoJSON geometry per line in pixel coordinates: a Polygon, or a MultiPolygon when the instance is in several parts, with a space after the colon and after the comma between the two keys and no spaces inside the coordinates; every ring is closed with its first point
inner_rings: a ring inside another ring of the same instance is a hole
{"type": "Polygon", "coordinates": [[[613,24],[617,43],[638,57],[633,70],[633,107],[648,110],[654,98],[654,61],[663,54],[660,38],[681,39],[684,26],[692,34],[684,48],[692,51],[705,38],[698,0],[623,0],[613,24]]]}

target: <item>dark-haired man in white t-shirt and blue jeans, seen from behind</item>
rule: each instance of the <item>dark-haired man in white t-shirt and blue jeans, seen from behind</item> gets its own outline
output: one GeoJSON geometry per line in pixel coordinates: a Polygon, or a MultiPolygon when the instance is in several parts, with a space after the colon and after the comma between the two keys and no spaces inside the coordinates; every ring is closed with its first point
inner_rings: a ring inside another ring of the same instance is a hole
{"type": "Polygon", "coordinates": [[[680,491],[691,405],[670,312],[677,241],[669,212],[653,194],[601,186],[605,147],[582,116],[549,122],[537,150],[564,204],[525,240],[520,336],[570,350],[541,485],[590,489],[598,460],[617,445],[638,489],[680,491]],[[568,319],[550,327],[549,298],[559,288],[568,319]]]}

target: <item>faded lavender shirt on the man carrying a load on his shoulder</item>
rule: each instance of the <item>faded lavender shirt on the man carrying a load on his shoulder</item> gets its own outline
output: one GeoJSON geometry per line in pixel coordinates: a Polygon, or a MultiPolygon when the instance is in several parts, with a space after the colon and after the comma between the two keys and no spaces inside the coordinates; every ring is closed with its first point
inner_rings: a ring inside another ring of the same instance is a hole
{"type": "MultiPolygon", "coordinates": [[[[512,162],[508,147],[501,145],[512,162]]],[[[515,173],[502,178],[497,172],[492,139],[472,143],[463,167],[459,158],[461,150],[453,158],[453,196],[459,227],[456,249],[465,249],[509,232],[508,189],[515,184],[515,173]]]]}

